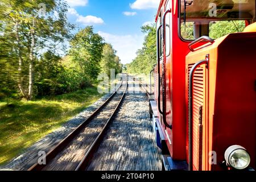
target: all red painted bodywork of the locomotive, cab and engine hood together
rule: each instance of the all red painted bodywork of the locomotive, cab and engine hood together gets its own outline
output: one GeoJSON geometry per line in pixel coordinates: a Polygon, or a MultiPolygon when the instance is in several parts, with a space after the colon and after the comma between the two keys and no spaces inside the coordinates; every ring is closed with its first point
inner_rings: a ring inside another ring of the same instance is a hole
{"type": "MultiPolygon", "coordinates": [[[[166,0],[161,1],[158,13],[166,5],[166,2],[166,0]]],[[[188,70],[186,72],[185,57],[189,53],[189,42],[183,42],[179,38],[177,17],[179,5],[176,3],[177,1],[171,2],[172,10],[175,11],[169,14],[172,23],[170,26],[171,54],[166,57],[167,97],[166,101],[162,101],[162,90],[160,90],[160,98],[161,105],[162,102],[166,103],[166,119],[169,124],[172,124],[173,129],[166,130],[166,127],[162,125],[162,130],[167,131],[167,146],[172,158],[185,160],[188,158],[186,156],[186,152],[188,155],[188,144],[186,143],[188,136],[188,70]],[[169,138],[171,142],[168,142],[169,138]]],[[[205,80],[195,80],[194,136],[197,138],[193,138],[193,143],[194,147],[198,149],[193,152],[195,154],[193,160],[196,161],[195,169],[221,169],[219,164],[224,160],[224,152],[233,144],[240,144],[247,148],[251,154],[252,166],[255,167],[255,48],[255,33],[232,34],[216,40],[212,46],[188,55],[187,65],[204,59],[208,53],[210,55],[209,69],[203,73],[205,80]],[[203,88],[200,87],[202,84],[205,84],[203,88]],[[205,93],[202,94],[200,89],[203,89],[205,93]],[[203,125],[199,126],[196,115],[200,105],[204,105],[204,113],[203,125]],[[201,133],[197,135],[199,131],[201,133]],[[199,142],[202,146],[201,149],[197,147],[199,142]],[[210,151],[217,152],[217,165],[208,163],[210,151]],[[199,152],[202,152],[201,157],[199,157],[199,152]],[[203,163],[202,166],[199,166],[199,161],[203,163]]],[[[160,75],[162,75],[162,62],[160,75]]],[[[200,73],[196,77],[200,77],[200,73]]],[[[157,88],[158,85],[155,84],[155,86],[157,88]]],[[[155,93],[157,98],[158,93],[155,93]]]]}

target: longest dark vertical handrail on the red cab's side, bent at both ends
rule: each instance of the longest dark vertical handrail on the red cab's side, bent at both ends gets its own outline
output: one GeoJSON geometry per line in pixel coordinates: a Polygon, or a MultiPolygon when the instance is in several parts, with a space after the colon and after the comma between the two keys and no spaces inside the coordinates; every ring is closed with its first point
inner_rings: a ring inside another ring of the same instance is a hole
{"type": "Polygon", "coordinates": [[[166,121],[166,15],[168,13],[171,13],[171,9],[166,10],[163,14],[163,89],[162,89],[162,95],[163,95],[163,123],[168,127],[169,129],[172,129],[172,125],[169,125],[166,121]]]}

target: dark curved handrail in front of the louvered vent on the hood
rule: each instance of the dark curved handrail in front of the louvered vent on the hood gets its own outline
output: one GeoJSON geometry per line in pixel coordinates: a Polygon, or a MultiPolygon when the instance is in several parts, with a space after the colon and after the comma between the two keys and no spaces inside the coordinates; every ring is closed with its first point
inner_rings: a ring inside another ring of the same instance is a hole
{"type": "Polygon", "coordinates": [[[197,62],[193,67],[191,68],[191,71],[189,73],[189,88],[188,88],[188,170],[193,170],[193,157],[192,157],[192,131],[193,131],[193,76],[195,74],[195,71],[197,68],[199,68],[203,64],[208,65],[208,58],[206,60],[201,60],[197,62]]]}

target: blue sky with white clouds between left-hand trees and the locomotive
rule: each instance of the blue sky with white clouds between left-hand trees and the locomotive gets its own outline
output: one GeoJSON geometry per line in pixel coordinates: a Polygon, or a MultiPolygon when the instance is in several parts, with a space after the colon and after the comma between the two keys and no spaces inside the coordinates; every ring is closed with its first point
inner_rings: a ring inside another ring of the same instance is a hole
{"type": "Polygon", "coordinates": [[[69,22],[94,31],[111,43],[123,64],[142,47],[141,26],[153,23],[160,0],[67,0],[69,22]]]}

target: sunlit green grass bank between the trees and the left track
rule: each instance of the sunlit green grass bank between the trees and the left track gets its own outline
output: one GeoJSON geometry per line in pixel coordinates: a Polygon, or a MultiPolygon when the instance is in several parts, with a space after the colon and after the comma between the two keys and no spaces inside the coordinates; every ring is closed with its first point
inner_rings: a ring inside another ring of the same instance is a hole
{"type": "Polygon", "coordinates": [[[0,101],[0,165],[6,164],[40,138],[93,104],[102,94],[97,86],[35,101],[0,101]]]}

